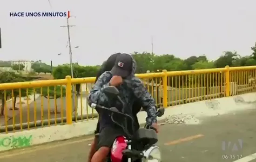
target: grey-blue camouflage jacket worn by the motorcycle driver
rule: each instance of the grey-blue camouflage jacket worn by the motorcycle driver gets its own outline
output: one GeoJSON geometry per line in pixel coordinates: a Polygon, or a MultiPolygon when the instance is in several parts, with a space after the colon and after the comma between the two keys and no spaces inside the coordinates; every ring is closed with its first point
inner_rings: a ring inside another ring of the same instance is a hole
{"type": "MultiPolygon", "coordinates": [[[[91,89],[88,96],[88,104],[96,103],[105,107],[112,107],[116,101],[111,100],[102,92],[102,88],[109,86],[109,81],[112,78],[112,74],[107,71],[104,72],[94,84],[94,87],[91,89]]],[[[148,113],[146,118],[146,123],[151,125],[156,123],[156,104],[154,98],[148,93],[147,89],[143,86],[142,81],[132,76],[130,79],[123,80],[123,84],[118,87],[120,91],[120,97],[125,103],[125,113],[133,116],[132,114],[132,105],[135,100],[140,100],[142,107],[148,113]]],[[[100,120],[102,118],[109,118],[109,116],[99,112],[100,120]]],[[[109,119],[107,119],[109,120],[109,119]]],[[[101,123],[101,121],[100,121],[101,123]]],[[[100,124],[101,125],[101,124],[100,124]]]]}

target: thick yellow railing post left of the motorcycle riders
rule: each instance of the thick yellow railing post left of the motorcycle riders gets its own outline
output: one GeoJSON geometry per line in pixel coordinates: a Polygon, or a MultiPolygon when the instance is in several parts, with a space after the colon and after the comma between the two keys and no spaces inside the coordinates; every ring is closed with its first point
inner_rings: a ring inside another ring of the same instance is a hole
{"type": "Polygon", "coordinates": [[[71,87],[71,76],[66,76],[67,85],[66,85],[66,115],[67,115],[67,124],[72,124],[72,87],[71,87]]]}

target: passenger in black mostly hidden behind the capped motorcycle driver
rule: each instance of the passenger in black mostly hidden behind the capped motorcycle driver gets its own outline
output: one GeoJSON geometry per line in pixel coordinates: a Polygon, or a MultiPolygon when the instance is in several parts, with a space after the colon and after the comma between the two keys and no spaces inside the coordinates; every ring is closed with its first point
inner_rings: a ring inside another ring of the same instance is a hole
{"type": "MultiPolygon", "coordinates": [[[[115,66],[115,60],[117,58],[117,56],[121,55],[121,53],[115,53],[112,54],[111,56],[108,57],[108,59],[102,64],[101,69],[99,70],[98,74],[96,75],[96,79],[95,79],[95,83],[96,81],[98,81],[98,78],[101,76],[101,74],[103,74],[106,71],[110,71],[114,66],[115,66]]],[[[134,117],[134,131],[138,130],[140,125],[139,125],[139,121],[137,118],[137,113],[141,111],[141,103],[139,100],[135,100],[133,106],[132,106],[132,111],[133,111],[133,117],[134,117]]],[[[142,107],[144,110],[147,109],[147,107],[142,107]]],[[[131,128],[129,128],[131,129],[131,128]]],[[[94,153],[96,152],[96,144],[98,143],[98,134],[100,131],[100,123],[98,121],[97,123],[97,127],[96,130],[94,132],[95,137],[93,142],[91,143],[91,148],[89,151],[89,155],[88,155],[88,162],[91,162],[91,159],[94,155],[94,153]]]]}

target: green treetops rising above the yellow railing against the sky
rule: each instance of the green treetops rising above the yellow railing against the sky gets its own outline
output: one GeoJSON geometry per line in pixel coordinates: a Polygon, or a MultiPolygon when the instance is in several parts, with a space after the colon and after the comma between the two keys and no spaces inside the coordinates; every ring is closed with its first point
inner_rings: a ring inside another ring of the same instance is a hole
{"type": "MultiPolygon", "coordinates": [[[[148,70],[151,72],[161,72],[163,69],[166,69],[167,71],[177,71],[224,68],[226,65],[229,65],[230,67],[256,65],[256,59],[254,59],[256,58],[256,47],[251,47],[251,49],[253,50],[251,56],[241,57],[236,51],[225,51],[224,54],[215,61],[209,61],[205,55],[190,56],[184,60],[170,54],[155,55],[148,52],[134,52],[132,56],[137,62],[136,73],[146,73],[148,70]]],[[[99,65],[80,66],[77,63],[74,63],[74,77],[81,78],[96,76],[99,68],[99,65]]],[[[64,79],[67,75],[71,75],[69,64],[59,65],[53,70],[54,79],[64,79]]]]}

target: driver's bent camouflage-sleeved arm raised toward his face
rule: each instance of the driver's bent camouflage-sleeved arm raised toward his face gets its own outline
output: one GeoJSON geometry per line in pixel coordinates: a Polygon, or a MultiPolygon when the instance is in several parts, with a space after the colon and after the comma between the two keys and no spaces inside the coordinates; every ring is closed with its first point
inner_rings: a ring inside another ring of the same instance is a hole
{"type": "Polygon", "coordinates": [[[108,103],[108,97],[106,94],[102,92],[102,89],[106,86],[109,86],[109,80],[111,78],[110,72],[103,73],[98,81],[94,84],[94,87],[91,89],[88,97],[88,104],[91,105],[92,103],[102,105],[108,103]]]}

